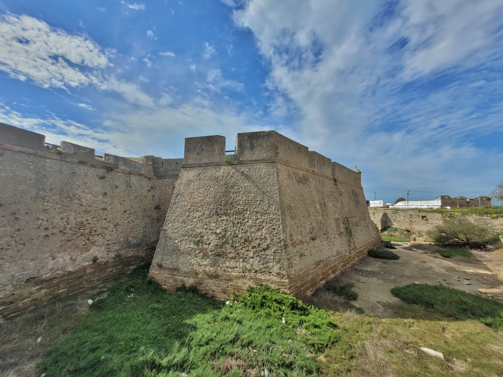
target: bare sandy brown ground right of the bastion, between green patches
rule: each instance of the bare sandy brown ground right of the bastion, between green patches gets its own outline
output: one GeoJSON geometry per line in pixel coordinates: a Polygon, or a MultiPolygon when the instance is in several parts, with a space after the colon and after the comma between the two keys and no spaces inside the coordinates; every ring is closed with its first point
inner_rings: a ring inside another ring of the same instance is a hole
{"type": "Polygon", "coordinates": [[[400,302],[390,288],[421,282],[444,284],[503,301],[503,250],[472,251],[471,258],[444,258],[432,245],[394,242],[398,260],[362,258],[332,284],[349,283],[358,293],[355,303],[374,317],[392,317],[389,304],[400,302]]]}

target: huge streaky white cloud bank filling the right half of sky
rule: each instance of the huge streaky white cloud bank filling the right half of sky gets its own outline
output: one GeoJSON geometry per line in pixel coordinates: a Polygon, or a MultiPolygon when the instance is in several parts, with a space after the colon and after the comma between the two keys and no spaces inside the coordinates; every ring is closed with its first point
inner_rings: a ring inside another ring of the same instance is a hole
{"type": "Polygon", "coordinates": [[[270,114],[298,115],[294,138],[357,164],[364,181],[373,176],[374,184],[389,186],[406,179],[410,186],[402,188],[416,190],[480,187],[503,158],[500,149],[483,151],[473,141],[501,131],[501,101],[487,104],[473,90],[499,90],[498,75],[489,85],[477,67],[494,72],[503,63],[503,3],[409,0],[387,12],[380,6],[255,0],[234,11],[236,25],[254,33],[271,63],[270,114]],[[445,70],[449,84],[414,81],[445,70]]]}

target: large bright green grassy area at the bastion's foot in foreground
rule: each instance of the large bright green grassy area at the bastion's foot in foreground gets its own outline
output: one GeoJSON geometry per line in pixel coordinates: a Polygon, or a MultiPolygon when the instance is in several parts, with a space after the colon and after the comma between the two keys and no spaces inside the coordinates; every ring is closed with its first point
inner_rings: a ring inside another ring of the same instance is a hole
{"type": "Polygon", "coordinates": [[[39,364],[51,376],[317,375],[340,338],[325,311],[270,287],[225,303],[174,293],[133,271],[39,364]]]}

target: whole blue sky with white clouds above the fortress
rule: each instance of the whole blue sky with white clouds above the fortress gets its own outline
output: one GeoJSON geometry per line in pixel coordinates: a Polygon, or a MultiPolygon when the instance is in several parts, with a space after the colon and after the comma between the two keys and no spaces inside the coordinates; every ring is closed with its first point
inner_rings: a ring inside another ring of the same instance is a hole
{"type": "Polygon", "coordinates": [[[503,180],[503,2],[0,0],[0,121],[122,156],[276,130],[367,199],[503,180]]]}

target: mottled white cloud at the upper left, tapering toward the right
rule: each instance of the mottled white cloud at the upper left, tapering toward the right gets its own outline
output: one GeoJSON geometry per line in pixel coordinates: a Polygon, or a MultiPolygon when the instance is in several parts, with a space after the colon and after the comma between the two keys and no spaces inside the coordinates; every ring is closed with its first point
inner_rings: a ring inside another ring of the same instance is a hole
{"type": "Polygon", "coordinates": [[[117,91],[139,105],[153,104],[135,84],[108,73],[115,52],[104,51],[86,35],[71,35],[33,17],[11,14],[0,16],[0,35],[0,69],[13,78],[66,90],[92,85],[117,91]]]}

